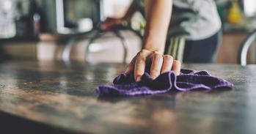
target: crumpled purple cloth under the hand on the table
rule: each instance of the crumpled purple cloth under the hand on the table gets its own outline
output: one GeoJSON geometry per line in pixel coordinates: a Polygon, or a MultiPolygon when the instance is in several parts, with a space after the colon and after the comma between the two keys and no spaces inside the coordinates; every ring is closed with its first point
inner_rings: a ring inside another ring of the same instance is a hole
{"type": "Polygon", "coordinates": [[[165,72],[155,80],[145,72],[142,80],[134,81],[133,74],[122,74],[114,78],[113,84],[98,86],[100,96],[162,94],[170,90],[190,91],[193,89],[232,89],[233,83],[211,76],[207,71],[181,69],[177,77],[173,71],[165,72]]]}

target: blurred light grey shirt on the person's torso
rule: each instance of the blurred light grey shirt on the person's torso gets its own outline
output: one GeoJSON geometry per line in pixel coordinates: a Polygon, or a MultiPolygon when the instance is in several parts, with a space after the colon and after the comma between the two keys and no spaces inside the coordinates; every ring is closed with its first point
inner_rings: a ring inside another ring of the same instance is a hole
{"type": "Polygon", "coordinates": [[[169,34],[202,40],[221,29],[213,0],[174,0],[169,34]]]}

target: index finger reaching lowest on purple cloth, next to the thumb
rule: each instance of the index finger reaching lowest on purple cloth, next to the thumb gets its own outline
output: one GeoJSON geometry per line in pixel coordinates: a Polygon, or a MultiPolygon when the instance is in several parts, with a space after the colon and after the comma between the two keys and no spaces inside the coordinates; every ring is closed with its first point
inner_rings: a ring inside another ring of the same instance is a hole
{"type": "Polygon", "coordinates": [[[134,79],[135,81],[140,81],[142,75],[145,72],[147,56],[150,55],[150,51],[142,50],[136,56],[136,62],[134,64],[134,79]]]}

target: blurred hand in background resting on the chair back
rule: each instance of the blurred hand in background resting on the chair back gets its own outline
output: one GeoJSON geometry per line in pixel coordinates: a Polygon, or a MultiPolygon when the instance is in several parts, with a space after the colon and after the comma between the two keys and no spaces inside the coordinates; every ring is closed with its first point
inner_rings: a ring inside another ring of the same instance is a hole
{"type": "Polygon", "coordinates": [[[106,20],[101,23],[100,28],[104,31],[109,31],[117,29],[120,26],[127,26],[127,24],[127,21],[120,18],[106,18],[106,20]]]}

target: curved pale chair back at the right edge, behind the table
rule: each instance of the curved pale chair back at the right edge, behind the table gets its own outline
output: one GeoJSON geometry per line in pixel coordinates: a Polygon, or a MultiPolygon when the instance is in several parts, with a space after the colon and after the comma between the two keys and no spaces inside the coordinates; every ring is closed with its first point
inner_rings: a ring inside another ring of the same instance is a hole
{"type": "Polygon", "coordinates": [[[249,50],[249,47],[255,42],[256,40],[256,29],[249,33],[244,41],[241,44],[241,47],[238,51],[238,64],[242,66],[246,65],[246,56],[249,50]]]}

